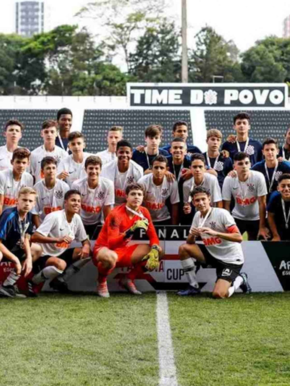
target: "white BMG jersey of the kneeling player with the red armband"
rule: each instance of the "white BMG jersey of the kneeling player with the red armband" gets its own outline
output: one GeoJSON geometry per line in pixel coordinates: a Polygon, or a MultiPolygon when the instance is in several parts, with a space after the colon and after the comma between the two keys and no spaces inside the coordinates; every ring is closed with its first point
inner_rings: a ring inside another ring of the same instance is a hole
{"type": "MultiPolygon", "coordinates": [[[[232,225],[235,225],[234,218],[230,213],[221,208],[212,208],[212,211],[205,223],[202,225],[203,217],[200,212],[196,212],[193,218],[191,227],[205,227],[216,230],[217,232],[227,233],[232,225]]],[[[244,262],[244,254],[242,251],[242,245],[239,242],[228,241],[221,237],[212,236],[203,233],[201,240],[205,244],[206,249],[216,259],[229,263],[240,265],[244,262]]]]}

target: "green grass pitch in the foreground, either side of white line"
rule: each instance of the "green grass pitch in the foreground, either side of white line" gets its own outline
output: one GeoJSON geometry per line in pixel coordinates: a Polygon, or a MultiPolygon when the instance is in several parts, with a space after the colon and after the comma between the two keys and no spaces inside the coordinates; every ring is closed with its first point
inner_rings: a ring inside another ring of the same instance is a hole
{"type": "MultiPolygon", "coordinates": [[[[179,386],[290,385],[290,293],[168,293],[179,386]]],[[[157,386],[156,295],[0,299],[0,386],[157,386]]]]}

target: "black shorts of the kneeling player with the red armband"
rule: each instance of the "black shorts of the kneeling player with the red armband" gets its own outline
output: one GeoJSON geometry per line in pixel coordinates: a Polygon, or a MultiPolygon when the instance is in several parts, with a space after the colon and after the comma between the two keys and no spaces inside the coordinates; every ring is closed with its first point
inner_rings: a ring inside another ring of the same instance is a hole
{"type": "Polygon", "coordinates": [[[210,252],[206,249],[205,245],[198,244],[205,257],[206,264],[201,264],[204,267],[212,267],[215,268],[217,274],[217,280],[223,279],[232,283],[235,281],[235,278],[239,276],[243,264],[231,264],[226,263],[224,261],[218,260],[210,254],[210,252]]]}

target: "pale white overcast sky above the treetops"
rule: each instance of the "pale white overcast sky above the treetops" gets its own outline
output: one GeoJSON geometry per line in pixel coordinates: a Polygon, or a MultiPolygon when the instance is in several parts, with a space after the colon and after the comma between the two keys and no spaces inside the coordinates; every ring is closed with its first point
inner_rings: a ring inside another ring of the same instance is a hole
{"type": "MultiPolygon", "coordinates": [[[[93,0],[90,0],[93,1],[93,0]]],[[[87,3],[85,0],[44,0],[50,8],[50,27],[60,24],[87,25],[90,32],[98,33],[95,22],[78,19],[75,13],[87,3]]],[[[181,0],[165,0],[166,14],[181,23],[181,0]]],[[[14,0],[0,0],[0,32],[14,32],[14,0]]],[[[232,39],[242,52],[265,36],[282,36],[283,19],[290,15],[287,0],[187,0],[188,44],[206,24],[226,40],[232,39]]]]}

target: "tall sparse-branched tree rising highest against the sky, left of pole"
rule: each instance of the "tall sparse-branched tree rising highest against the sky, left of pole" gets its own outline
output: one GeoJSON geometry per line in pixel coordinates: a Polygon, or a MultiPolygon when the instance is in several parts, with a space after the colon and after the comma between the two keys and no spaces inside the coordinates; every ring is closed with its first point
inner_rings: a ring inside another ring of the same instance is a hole
{"type": "Polygon", "coordinates": [[[97,20],[109,55],[121,49],[129,70],[129,47],[164,9],[164,0],[97,0],[82,7],[76,16],[97,20]]]}

